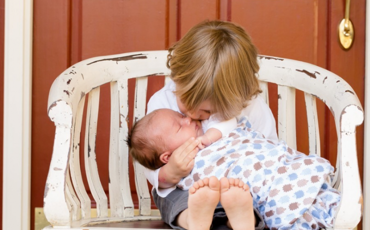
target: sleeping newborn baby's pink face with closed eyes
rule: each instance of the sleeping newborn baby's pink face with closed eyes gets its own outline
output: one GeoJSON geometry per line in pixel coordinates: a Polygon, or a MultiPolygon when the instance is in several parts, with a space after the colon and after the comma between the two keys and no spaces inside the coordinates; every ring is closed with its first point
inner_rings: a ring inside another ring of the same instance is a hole
{"type": "Polygon", "coordinates": [[[161,110],[154,120],[156,122],[154,135],[162,137],[168,148],[166,151],[173,152],[190,137],[196,138],[203,135],[200,121],[191,120],[190,117],[173,110],[161,110]]]}

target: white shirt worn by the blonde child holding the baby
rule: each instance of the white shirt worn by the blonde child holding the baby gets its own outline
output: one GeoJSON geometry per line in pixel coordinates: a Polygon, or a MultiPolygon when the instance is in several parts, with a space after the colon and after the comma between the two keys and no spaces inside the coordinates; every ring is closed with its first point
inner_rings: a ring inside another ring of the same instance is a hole
{"type": "MultiPolygon", "coordinates": [[[[176,95],[173,93],[175,90],[176,85],[171,80],[162,89],[154,93],[148,102],[147,114],[157,109],[171,109],[181,113],[176,102],[176,95]]],[[[260,96],[249,101],[248,106],[236,118],[220,122],[211,115],[208,120],[202,121],[202,126],[204,126],[202,127],[203,131],[205,132],[208,128],[217,128],[224,135],[236,127],[236,120],[239,120],[243,115],[248,116],[253,129],[261,132],[265,138],[276,143],[279,141],[276,134],[275,118],[270,108],[260,96]]],[[[157,194],[161,197],[166,197],[176,189],[176,185],[167,189],[158,188],[159,170],[160,168],[156,170],[145,168],[144,173],[149,183],[153,186],[153,189],[155,188],[157,190],[157,194]]]]}

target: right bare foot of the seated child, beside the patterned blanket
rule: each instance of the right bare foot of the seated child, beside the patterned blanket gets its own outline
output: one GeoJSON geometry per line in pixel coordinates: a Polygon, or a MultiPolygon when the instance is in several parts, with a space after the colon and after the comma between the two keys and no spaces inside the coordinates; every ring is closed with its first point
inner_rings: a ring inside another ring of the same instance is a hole
{"type": "Polygon", "coordinates": [[[221,204],[233,230],[254,230],[255,216],[249,186],[239,179],[226,177],[220,180],[221,204]]]}

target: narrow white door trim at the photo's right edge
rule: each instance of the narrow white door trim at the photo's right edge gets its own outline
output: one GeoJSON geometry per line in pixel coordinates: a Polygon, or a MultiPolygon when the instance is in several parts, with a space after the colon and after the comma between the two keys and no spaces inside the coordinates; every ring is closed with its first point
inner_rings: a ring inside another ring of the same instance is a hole
{"type": "Polygon", "coordinates": [[[366,41],[365,41],[365,134],[364,134],[364,213],[362,229],[370,229],[370,4],[366,4],[366,41]]]}

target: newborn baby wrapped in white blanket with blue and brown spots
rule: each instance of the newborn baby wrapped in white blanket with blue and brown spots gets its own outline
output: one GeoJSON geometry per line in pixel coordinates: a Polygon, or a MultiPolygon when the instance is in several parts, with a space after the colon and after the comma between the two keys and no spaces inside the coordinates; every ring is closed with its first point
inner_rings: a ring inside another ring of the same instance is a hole
{"type": "MultiPolygon", "coordinates": [[[[162,166],[188,138],[203,134],[199,123],[176,112],[158,110],[143,120],[131,133],[131,153],[144,166],[150,161],[156,162],[150,166],[162,166]],[[138,136],[151,143],[141,144],[145,150],[141,153],[135,151],[138,136]]],[[[339,192],[331,188],[332,172],[326,159],[266,140],[243,117],[228,137],[197,154],[193,170],[178,187],[191,190],[194,182],[211,176],[238,178],[251,188],[253,205],[270,229],[331,228],[340,200],[339,192]]]]}

